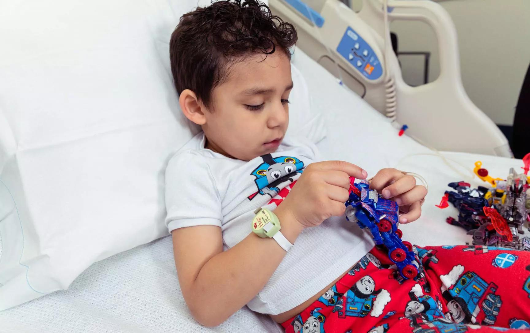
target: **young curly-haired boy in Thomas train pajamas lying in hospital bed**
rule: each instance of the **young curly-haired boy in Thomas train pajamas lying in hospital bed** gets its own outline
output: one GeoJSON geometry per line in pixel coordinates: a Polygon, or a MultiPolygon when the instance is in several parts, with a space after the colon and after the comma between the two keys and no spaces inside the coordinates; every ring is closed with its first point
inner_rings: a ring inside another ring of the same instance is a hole
{"type": "MultiPolygon", "coordinates": [[[[346,221],[349,177],[366,171],[319,162],[311,137],[285,136],[296,38],[256,0],[197,8],[171,36],[182,112],[202,127],[166,169],[166,223],[193,317],[216,326],[247,304],[304,333],[462,332],[528,320],[527,253],[514,253],[500,278],[491,274],[494,249],[418,247],[421,275],[403,280],[384,249],[346,221]],[[253,232],[260,207],[281,224],[272,238],[253,232]]],[[[426,189],[410,175],[384,169],[370,187],[398,202],[400,223],[420,216],[426,189]]]]}

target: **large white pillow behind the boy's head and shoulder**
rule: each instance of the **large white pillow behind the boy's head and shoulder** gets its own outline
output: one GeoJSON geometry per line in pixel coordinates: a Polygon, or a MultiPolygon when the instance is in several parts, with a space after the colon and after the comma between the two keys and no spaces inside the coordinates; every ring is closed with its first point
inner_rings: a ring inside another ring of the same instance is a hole
{"type": "MultiPolygon", "coordinates": [[[[199,131],[178,108],[168,43],[196,5],[0,3],[0,310],[167,235],[165,165],[199,131]]],[[[319,140],[294,74],[290,131],[319,140]]]]}

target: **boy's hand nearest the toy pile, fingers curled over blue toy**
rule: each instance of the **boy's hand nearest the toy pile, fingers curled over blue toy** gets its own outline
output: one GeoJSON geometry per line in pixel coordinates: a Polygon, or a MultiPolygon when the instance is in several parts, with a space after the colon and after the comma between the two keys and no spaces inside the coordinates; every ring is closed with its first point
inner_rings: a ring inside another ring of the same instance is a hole
{"type": "Polygon", "coordinates": [[[370,181],[370,188],[398,203],[400,211],[404,212],[399,218],[400,223],[409,223],[420,217],[421,200],[427,195],[427,189],[416,185],[416,178],[411,175],[393,168],[381,169],[370,181]]]}

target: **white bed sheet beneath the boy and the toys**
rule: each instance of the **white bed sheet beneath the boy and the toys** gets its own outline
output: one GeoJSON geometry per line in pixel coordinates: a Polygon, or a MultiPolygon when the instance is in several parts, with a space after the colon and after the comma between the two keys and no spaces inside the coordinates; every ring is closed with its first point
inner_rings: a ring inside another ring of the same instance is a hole
{"type": "MultiPolygon", "coordinates": [[[[464,178],[426,147],[397,131],[355,94],[300,50],[294,57],[304,74],[315,107],[320,107],[328,137],[320,143],[325,158],[343,159],[367,169],[386,166],[422,174],[429,184],[423,215],[402,226],[404,239],[419,245],[455,245],[470,241],[463,229],[445,223],[454,208],[434,205],[451,181],[471,179],[473,163],[482,160],[492,175],[504,177],[520,160],[463,153],[444,153],[460,161],[464,178]]],[[[352,263],[353,264],[353,263],[352,263]]],[[[208,306],[208,304],[205,304],[208,306]]],[[[70,285],[39,299],[0,312],[0,332],[281,332],[268,317],[244,307],[223,325],[209,329],[195,322],[185,306],[176,278],[171,238],[164,237],[93,264],[70,285]]]]}

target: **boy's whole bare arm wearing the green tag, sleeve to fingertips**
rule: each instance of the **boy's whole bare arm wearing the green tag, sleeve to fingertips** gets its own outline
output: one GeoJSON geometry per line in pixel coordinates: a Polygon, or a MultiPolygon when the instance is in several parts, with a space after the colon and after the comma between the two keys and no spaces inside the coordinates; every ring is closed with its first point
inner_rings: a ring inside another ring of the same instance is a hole
{"type": "MultiPolygon", "coordinates": [[[[276,208],[281,232],[294,243],[304,227],[344,214],[349,177],[366,171],[342,161],[312,163],[276,208]]],[[[249,221],[249,229],[250,229],[249,221]]],[[[270,279],[286,252],[272,238],[249,234],[223,252],[221,229],[175,229],[173,250],[184,299],[202,325],[216,326],[248,303],[270,279]]]]}

